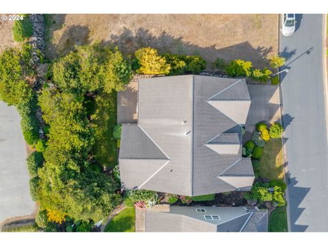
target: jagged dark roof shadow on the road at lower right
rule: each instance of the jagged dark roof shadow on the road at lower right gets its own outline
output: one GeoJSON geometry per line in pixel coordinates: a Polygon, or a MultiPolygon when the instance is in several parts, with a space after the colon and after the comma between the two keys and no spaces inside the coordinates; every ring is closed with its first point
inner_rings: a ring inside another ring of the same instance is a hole
{"type": "Polygon", "coordinates": [[[290,229],[292,232],[305,232],[308,226],[297,224],[297,220],[303,213],[303,210],[305,210],[305,208],[300,208],[299,205],[310,191],[310,188],[297,187],[297,178],[291,177],[290,172],[286,173],[286,180],[288,185],[288,193],[290,194],[290,202],[287,208],[290,215],[288,218],[288,220],[290,220],[290,229]]]}

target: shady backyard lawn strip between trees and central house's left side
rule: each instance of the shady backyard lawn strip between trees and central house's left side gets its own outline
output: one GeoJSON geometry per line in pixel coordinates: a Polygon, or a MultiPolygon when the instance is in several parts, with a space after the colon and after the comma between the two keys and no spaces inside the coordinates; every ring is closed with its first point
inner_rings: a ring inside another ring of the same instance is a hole
{"type": "Polygon", "coordinates": [[[117,140],[113,139],[113,128],[116,125],[116,92],[102,93],[95,100],[87,102],[94,128],[94,158],[100,165],[113,168],[118,163],[117,140]]]}

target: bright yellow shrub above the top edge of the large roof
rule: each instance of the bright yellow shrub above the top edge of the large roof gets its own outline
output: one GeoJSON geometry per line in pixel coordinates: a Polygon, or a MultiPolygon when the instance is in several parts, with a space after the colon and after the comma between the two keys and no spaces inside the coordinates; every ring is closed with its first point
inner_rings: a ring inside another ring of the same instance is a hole
{"type": "Polygon", "coordinates": [[[140,68],[136,70],[141,74],[169,74],[171,66],[167,64],[165,57],[161,57],[156,49],[142,48],[135,51],[140,68]]]}

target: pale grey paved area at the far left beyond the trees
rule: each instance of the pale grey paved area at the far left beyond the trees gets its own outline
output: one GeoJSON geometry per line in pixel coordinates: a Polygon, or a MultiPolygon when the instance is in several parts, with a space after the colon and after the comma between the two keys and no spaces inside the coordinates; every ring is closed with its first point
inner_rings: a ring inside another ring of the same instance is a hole
{"type": "Polygon", "coordinates": [[[25,159],[19,115],[0,101],[0,222],[33,213],[25,159]]]}

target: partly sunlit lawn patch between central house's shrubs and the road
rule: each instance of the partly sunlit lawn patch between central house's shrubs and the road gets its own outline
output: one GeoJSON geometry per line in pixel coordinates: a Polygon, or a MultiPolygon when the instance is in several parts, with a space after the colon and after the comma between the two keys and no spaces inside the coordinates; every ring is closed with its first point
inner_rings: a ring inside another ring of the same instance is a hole
{"type": "Polygon", "coordinates": [[[282,159],[282,139],[270,139],[264,146],[260,159],[259,176],[269,179],[284,178],[284,163],[282,159]]]}

